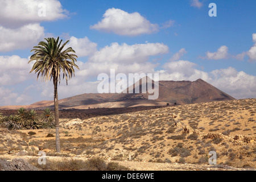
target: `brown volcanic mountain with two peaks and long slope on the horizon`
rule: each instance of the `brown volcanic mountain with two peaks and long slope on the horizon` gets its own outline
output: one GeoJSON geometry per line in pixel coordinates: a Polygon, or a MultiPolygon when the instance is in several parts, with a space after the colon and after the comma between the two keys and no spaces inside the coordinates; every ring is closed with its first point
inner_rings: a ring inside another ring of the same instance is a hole
{"type": "MultiPolygon", "coordinates": [[[[159,97],[156,100],[148,100],[148,96],[152,94],[148,93],[150,90],[147,89],[147,86],[148,80],[147,82],[142,82],[141,79],[137,84],[127,88],[127,93],[80,94],[59,100],[59,106],[60,109],[88,109],[89,107],[161,106],[167,103],[170,105],[183,105],[235,99],[201,79],[196,81],[159,81],[159,97]],[[146,93],[142,93],[143,86],[146,86],[146,93]],[[138,87],[139,92],[135,93],[138,87]],[[129,93],[129,89],[133,90],[133,93],[129,93]]],[[[155,87],[156,84],[152,81],[152,89],[155,89],[156,92],[157,87],[155,87]]],[[[11,107],[13,108],[14,106],[11,107]]],[[[27,109],[53,107],[53,101],[40,101],[25,107],[27,109]]],[[[0,107],[0,109],[10,109],[10,107],[4,106],[0,107]]]]}

